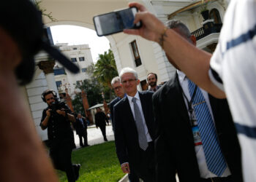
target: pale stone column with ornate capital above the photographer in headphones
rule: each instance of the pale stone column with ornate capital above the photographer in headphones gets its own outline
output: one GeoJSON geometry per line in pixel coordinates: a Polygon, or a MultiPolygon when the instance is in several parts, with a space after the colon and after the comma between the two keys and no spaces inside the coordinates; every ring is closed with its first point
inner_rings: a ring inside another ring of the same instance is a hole
{"type": "Polygon", "coordinates": [[[38,63],[39,68],[44,71],[46,82],[50,90],[56,91],[59,98],[59,91],[56,86],[54,78],[53,67],[55,66],[55,60],[42,60],[38,63]]]}

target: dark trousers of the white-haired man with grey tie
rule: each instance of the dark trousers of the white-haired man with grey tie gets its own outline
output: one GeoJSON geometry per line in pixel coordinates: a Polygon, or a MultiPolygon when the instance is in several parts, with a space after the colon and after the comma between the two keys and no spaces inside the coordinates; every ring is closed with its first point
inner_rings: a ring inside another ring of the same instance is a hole
{"type": "Polygon", "coordinates": [[[138,156],[140,162],[138,162],[137,165],[130,166],[130,168],[132,168],[131,170],[144,182],[155,182],[154,143],[148,143],[148,149],[146,149],[146,151],[140,149],[138,156]]]}

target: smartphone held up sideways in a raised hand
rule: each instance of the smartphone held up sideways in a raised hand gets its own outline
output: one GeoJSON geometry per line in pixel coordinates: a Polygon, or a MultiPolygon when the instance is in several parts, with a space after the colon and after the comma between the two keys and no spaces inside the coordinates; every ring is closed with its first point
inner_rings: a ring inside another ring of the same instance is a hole
{"type": "Polygon", "coordinates": [[[108,36],[127,28],[140,28],[141,22],[134,24],[137,7],[94,16],[94,27],[98,36],[108,36]]]}

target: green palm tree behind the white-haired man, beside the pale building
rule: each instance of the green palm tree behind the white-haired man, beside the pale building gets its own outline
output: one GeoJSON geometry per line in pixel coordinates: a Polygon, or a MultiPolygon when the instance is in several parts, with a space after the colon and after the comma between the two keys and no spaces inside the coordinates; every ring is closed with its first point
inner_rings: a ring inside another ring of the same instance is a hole
{"type": "Polygon", "coordinates": [[[118,72],[111,50],[108,50],[108,53],[104,52],[104,55],[99,55],[99,60],[95,64],[94,76],[96,76],[98,82],[112,89],[111,80],[113,77],[118,76],[118,72]]]}

